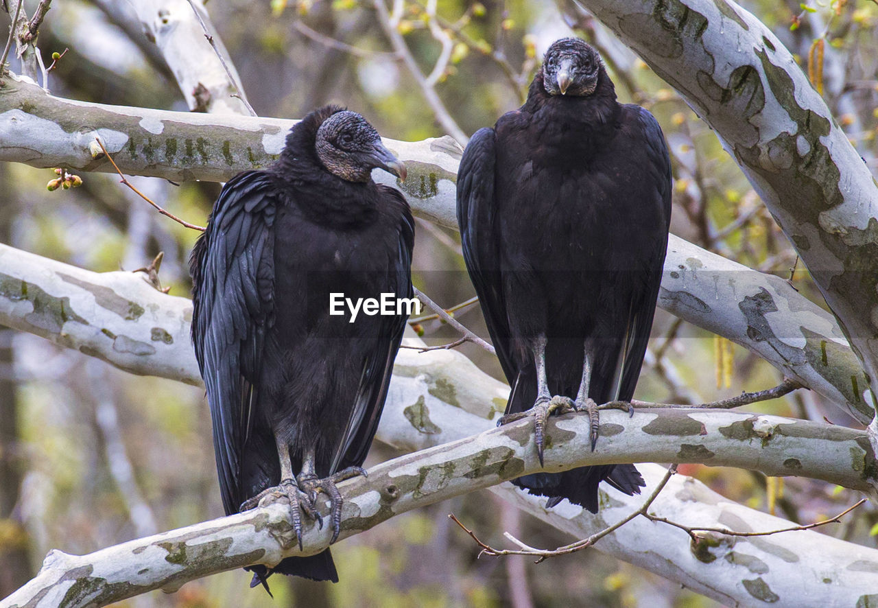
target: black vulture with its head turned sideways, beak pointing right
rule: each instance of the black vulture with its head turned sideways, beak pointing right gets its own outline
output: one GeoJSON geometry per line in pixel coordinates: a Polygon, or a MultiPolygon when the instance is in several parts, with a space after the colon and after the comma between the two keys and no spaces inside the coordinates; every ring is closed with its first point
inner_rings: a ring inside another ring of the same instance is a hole
{"type": "MultiPolygon", "coordinates": [[[[330,315],[330,294],[413,297],[414,221],[399,191],[371,180],[376,167],[405,179],[362,116],[311,112],[277,163],[227,182],[192,251],[192,341],[223,505],[288,500],[299,546],[302,512],[322,525],[321,492],[338,536],[335,482],[363,474],[406,323],[330,315]]],[[[248,569],[251,587],[268,589],[273,572],[338,581],[328,549],[248,569]]]]}

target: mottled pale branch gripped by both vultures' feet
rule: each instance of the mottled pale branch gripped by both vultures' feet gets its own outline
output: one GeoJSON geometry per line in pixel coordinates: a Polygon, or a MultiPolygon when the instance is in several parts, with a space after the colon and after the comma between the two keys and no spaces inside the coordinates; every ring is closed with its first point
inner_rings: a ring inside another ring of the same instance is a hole
{"type": "MultiPolygon", "coordinates": [[[[596,452],[589,450],[587,416],[553,420],[549,425],[552,447],[545,453],[545,469],[560,471],[580,465],[636,461],[643,453],[638,447],[643,438],[643,445],[656,448],[650,457],[668,454],[680,462],[706,458],[717,465],[758,466],[770,474],[776,474],[774,469],[808,472],[868,488],[867,476],[871,473],[851,467],[853,453],[859,453],[859,458],[867,453],[860,444],[868,446],[868,441],[859,431],[731,412],[679,416],[665,412],[660,417],[637,414],[634,418],[623,412],[608,412],[604,419],[604,437],[596,452]],[[705,445],[715,447],[716,454],[705,456],[705,445]],[[806,452],[813,456],[809,458],[806,452]],[[799,464],[790,464],[792,460],[799,464]]],[[[531,427],[530,421],[507,424],[390,460],[371,468],[368,478],[346,482],[342,486],[346,503],[341,538],[408,510],[542,470],[531,427]]],[[[658,508],[662,502],[659,498],[654,506],[658,508]]],[[[327,505],[323,504],[322,509],[325,511],[327,505]]],[[[275,505],[82,557],[53,552],[40,575],[0,606],[48,605],[40,602],[49,597],[52,605],[71,608],[104,605],[147,590],[175,589],[187,580],[250,563],[272,565],[285,556],[314,554],[327,546],[332,533],[329,527],[320,530],[312,524],[306,528],[304,549],[299,552],[287,511],[275,505]],[[59,598],[63,599],[59,602],[59,598]],[[28,604],[31,601],[33,604],[28,604]]],[[[878,564],[878,551],[864,549],[862,554],[870,556],[868,563],[878,564]]]]}

